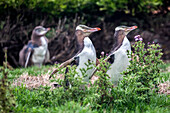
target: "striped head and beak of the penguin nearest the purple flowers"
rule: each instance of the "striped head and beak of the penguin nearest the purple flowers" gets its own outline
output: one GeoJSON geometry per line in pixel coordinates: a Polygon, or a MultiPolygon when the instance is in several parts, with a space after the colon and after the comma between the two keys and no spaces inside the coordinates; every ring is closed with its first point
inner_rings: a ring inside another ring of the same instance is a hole
{"type": "Polygon", "coordinates": [[[127,27],[127,26],[118,26],[115,28],[115,32],[117,31],[122,31],[125,35],[127,35],[130,31],[137,29],[137,26],[131,26],[131,27],[127,27]]]}

